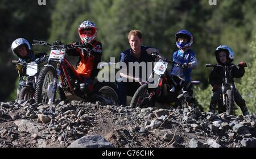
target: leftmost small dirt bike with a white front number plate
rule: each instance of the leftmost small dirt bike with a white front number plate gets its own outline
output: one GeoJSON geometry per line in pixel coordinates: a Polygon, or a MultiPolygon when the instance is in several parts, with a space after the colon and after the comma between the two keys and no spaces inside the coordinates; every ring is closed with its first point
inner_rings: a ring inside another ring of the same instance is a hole
{"type": "MultiPolygon", "coordinates": [[[[22,65],[24,66],[23,69],[26,69],[26,76],[22,77],[23,81],[26,82],[22,83],[23,87],[19,91],[18,100],[24,99],[25,101],[27,101],[28,99],[35,97],[36,81],[39,74],[38,64],[45,61],[47,58],[48,56],[37,58],[35,61],[32,61],[30,63],[16,60],[11,61],[13,64],[22,65]]],[[[25,71],[23,70],[23,72],[25,71]]]]}

